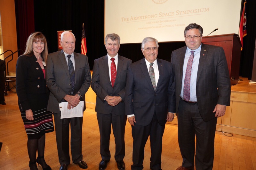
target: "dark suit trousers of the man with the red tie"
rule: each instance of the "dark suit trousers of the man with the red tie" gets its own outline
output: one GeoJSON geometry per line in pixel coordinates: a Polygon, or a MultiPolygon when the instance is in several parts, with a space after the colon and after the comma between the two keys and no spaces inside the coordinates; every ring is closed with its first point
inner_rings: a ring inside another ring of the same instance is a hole
{"type": "Polygon", "coordinates": [[[100,129],[101,158],[104,160],[110,159],[109,140],[112,124],[116,144],[115,160],[123,160],[125,155],[124,129],[127,121],[127,116],[116,115],[112,111],[110,114],[97,113],[97,120],[100,129]]]}

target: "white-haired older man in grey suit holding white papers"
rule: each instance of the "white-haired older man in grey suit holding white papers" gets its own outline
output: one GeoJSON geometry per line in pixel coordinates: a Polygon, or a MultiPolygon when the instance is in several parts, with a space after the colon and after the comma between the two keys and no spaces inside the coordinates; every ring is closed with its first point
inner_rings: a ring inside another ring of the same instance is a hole
{"type": "Polygon", "coordinates": [[[86,169],[82,155],[83,117],[60,119],[59,103],[67,101],[68,109],[73,109],[80,101],[85,101],[85,93],[91,84],[91,72],[87,56],[74,52],[74,34],[64,31],[60,41],[63,50],[49,54],[46,64],[46,84],[51,91],[47,110],[53,112],[54,116],[60,170],[66,170],[70,164],[69,125],[73,163],[86,169]]]}

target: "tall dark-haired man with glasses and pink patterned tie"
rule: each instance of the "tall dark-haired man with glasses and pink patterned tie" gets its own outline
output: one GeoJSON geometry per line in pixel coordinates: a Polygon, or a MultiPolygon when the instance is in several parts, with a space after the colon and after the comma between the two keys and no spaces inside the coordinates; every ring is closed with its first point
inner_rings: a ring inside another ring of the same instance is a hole
{"type": "Polygon", "coordinates": [[[186,46],[172,52],[176,80],[178,139],[183,158],[179,169],[212,169],[217,118],[230,104],[230,79],[223,48],[201,43],[203,28],[189,24],[186,46]]]}

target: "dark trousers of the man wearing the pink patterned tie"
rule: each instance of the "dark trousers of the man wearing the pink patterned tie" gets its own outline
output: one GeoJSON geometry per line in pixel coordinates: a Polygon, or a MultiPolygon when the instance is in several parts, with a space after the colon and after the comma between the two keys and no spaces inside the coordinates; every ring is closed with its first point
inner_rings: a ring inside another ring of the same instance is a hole
{"type": "Polygon", "coordinates": [[[196,169],[212,169],[217,118],[205,122],[199,113],[197,103],[189,103],[182,99],[177,114],[182,166],[194,166],[196,136],[196,169]]]}

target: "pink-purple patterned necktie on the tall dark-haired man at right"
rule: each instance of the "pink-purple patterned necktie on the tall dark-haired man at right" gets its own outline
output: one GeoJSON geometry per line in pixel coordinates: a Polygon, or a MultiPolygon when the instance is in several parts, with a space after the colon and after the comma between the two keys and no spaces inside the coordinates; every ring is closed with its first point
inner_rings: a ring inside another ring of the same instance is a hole
{"type": "Polygon", "coordinates": [[[191,69],[194,59],[194,51],[190,51],[191,55],[188,59],[187,69],[185,73],[185,79],[184,79],[184,89],[183,89],[183,98],[185,101],[189,101],[190,99],[190,78],[191,78],[191,69]]]}

